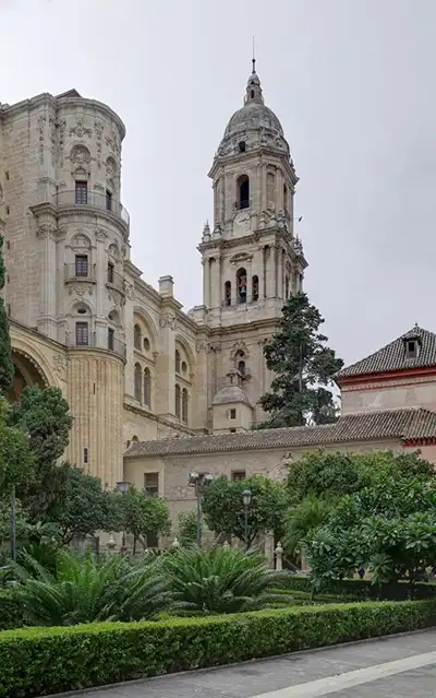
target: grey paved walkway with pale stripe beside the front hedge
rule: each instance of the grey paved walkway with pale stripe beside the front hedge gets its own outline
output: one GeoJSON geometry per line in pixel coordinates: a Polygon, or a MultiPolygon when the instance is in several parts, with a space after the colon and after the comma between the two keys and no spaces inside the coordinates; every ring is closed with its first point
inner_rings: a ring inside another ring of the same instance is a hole
{"type": "Polygon", "coordinates": [[[436,630],[95,690],[89,698],[435,698],[436,630]]]}

